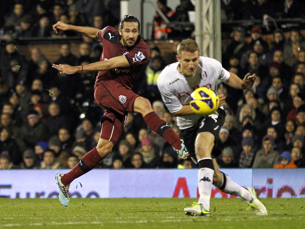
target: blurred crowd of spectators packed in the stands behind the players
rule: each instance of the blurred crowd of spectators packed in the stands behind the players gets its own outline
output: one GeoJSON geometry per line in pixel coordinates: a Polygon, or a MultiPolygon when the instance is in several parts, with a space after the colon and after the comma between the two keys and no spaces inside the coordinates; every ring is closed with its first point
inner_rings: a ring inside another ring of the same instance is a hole
{"type": "MultiPolygon", "coordinates": [[[[58,20],[99,29],[116,26],[118,21],[107,1],[34,2],[1,3],[6,14],[0,14],[0,32],[12,39],[0,45],[0,169],[72,169],[99,141],[103,112],[93,98],[97,73],[59,74],[38,48],[30,49],[27,60],[18,51],[18,39],[76,36],[72,32],[55,35],[52,24],[58,20]]],[[[266,5],[273,1],[224,2],[228,1],[222,1],[227,18],[238,20],[261,18],[258,12],[270,10],[266,5]],[[247,2],[254,2],[256,7],[248,9],[247,2]],[[245,9],[250,13],[241,14],[245,9]]],[[[303,16],[305,10],[300,9],[304,4],[297,7],[299,3],[286,0],[268,13],[273,17],[303,16]]],[[[172,12],[167,1],[158,1],[158,7],[169,18],[174,16],[173,20],[180,21],[188,21],[191,4],[181,0],[172,12]]],[[[158,24],[160,20],[156,14],[152,37],[164,31],[158,24]]],[[[165,28],[166,34],[171,32],[174,31],[165,28]]],[[[54,63],[82,65],[99,61],[102,45],[82,39],[78,56],[71,53],[69,44],[62,44],[60,58],[54,63]]],[[[253,27],[247,39],[244,29],[236,28],[229,44],[224,45],[223,66],[241,78],[247,72],[255,73],[257,79],[253,88],[244,92],[218,85],[217,93],[227,97],[227,115],[217,143],[223,148],[217,158],[222,168],[305,167],[305,39],[301,31],[293,29],[288,33],[275,30],[271,40],[264,40],[260,27],[253,27]]],[[[167,64],[170,63],[166,63],[160,49],[153,47],[149,64],[136,79],[134,90],[148,98],[153,110],[179,134],[175,117],[165,109],[156,86],[158,75],[167,64]]],[[[190,158],[179,160],[174,148],[152,132],[140,114],[129,113],[119,142],[98,168],[195,166],[190,158]]]]}

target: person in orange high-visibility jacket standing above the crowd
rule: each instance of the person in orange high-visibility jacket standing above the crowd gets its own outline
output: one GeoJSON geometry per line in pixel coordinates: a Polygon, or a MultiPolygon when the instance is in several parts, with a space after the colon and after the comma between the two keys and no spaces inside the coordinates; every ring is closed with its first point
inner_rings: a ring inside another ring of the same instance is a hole
{"type": "MultiPolygon", "coordinates": [[[[157,5],[158,8],[167,17],[167,19],[171,20],[171,18],[175,14],[175,11],[167,6],[167,0],[158,0],[157,5]]],[[[153,40],[166,39],[167,34],[170,33],[171,31],[172,30],[167,27],[167,24],[162,19],[162,17],[156,12],[153,20],[152,39],[153,40]]]]}

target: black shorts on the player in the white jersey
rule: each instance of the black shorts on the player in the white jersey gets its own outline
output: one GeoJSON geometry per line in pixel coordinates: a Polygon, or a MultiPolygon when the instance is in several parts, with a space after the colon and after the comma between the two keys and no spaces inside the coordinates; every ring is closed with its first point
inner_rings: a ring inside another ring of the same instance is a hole
{"type": "Polygon", "coordinates": [[[181,135],[185,146],[192,158],[196,158],[195,140],[197,134],[201,132],[210,132],[215,136],[215,145],[212,151],[212,158],[216,158],[219,154],[221,154],[222,149],[217,148],[217,140],[219,138],[220,129],[222,125],[224,125],[225,116],[225,111],[223,109],[218,109],[214,114],[200,118],[196,125],[181,130],[181,135]]]}

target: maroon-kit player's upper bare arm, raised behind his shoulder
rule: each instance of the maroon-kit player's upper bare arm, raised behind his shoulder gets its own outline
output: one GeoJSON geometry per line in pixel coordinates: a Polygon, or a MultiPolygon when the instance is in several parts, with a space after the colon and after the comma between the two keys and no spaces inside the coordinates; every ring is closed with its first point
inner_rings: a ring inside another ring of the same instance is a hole
{"type": "Polygon", "coordinates": [[[100,31],[99,29],[96,29],[96,28],[75,26],[75,25],[63,23],[61,21],[58,21],[56,24],[53,25],[53,30],[56,34],[58,34],[58,30],[63,30],[63,31],[71,30],[71,31],[81,33],[82,35],[84,35],[86,37],[90,37],[90,38],[96,38],[100,31]]]}

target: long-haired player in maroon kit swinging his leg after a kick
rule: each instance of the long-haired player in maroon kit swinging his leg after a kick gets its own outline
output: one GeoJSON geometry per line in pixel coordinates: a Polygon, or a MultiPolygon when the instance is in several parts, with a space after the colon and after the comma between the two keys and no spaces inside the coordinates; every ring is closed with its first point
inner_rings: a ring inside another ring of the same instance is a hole
{"type": "Polygon", "coordinates": [[[105,109],[97,146],[85,154],[70,172],[56,175],[62,205],[69,205],[70,183],[93,169],[111,152],[123,131],[128,112],[141,113],[150,129],[167,140],[181,158],[187,158],[189,154],[183,140],[152,110],[149,100],[135,94],[131,89],[135,77],[149,58],[149,47],[140,36],[140,22],[135,16],[125,15],[118,30],[111,26],[99,30],[60,21],[53,25],[53,30],[56,34],[58,30],[79,32],[90,38],[99,38],[103,43],[99,62],[81,66],[52,66],[60,74],[99,71],[94,85],[94,98],[105,109]]]}

